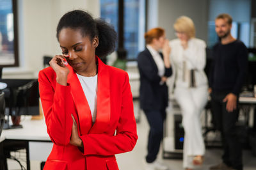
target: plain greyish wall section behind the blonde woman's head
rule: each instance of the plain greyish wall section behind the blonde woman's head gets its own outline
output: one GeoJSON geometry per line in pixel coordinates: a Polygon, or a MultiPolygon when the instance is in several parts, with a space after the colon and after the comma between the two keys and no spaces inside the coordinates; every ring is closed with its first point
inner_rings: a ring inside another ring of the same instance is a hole
{"type": "Polygon", "coordinates": [[[196,37],[207,41],[208,1],[205,0],[158,0],[158,26],[166,29],[168,39],[176,38],[173,24],[181,15],[195,23],[196,37]]]}

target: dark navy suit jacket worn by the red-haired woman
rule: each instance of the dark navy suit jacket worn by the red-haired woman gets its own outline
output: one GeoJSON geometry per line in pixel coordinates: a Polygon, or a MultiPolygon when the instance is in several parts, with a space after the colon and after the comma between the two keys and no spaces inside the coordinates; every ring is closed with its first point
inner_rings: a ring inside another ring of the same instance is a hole
{"type": "MultiPolygon", "coordinates": [[[[163,58],[163,54],[160,54],[163,58]]],[[[158,68],[148,49],[138,56],[140,71],[140,107],[143,110],[161,111],[168,105],[168,88],[166,83],[159,84],[161,77],[158,68]]],[[[165,68],[164,75],[170,77],[172,68],[165,68]]]]}

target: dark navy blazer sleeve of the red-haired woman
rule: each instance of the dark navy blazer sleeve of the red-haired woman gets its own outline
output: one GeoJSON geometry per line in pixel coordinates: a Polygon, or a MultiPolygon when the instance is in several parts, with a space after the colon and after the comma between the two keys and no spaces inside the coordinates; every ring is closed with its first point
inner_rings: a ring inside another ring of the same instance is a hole
{"type": "Polygon", "coordinates": [[[138,67],[141,72],[151,82],[160,82],[161,77],[158,75],[158,70],[152,66],[152,62],[148,56],[141,52],[138,56],[138,67]]]}

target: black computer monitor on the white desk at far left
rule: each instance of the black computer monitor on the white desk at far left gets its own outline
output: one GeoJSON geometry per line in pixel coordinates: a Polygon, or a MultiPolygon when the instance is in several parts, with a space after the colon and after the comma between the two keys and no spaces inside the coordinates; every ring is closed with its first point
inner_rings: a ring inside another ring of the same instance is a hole
{"type": "MultiPolygon", "coordinates": [[[[7,84],[3,91],[6,102],[5,114],[8,117],[12,116],[15,121],[15,118],[20,115],[39,115],[37,79],[0,79],[0,82],[7,84]]],[[[13,125],[18,127],[19,122],[13,123],[13,125]]],[[[10,126],[5,128],[10,128],[10,126]]]]}

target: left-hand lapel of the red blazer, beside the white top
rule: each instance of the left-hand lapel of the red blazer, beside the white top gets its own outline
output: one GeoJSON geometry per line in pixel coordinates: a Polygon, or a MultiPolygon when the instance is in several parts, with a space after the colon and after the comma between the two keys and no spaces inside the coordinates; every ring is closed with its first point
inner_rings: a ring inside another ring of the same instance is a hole
{"type": "Polygon", "coordinates": [[[76,116],[78,117],[77,125],[81,134],[85,135],[92,128],[92,114],[76,73],[71,66],[68,65],[68,68],[70,73],[68,73],[67,82],[71,86],[71,94],[77,109],[77,115],[74,115],[74,117],[75,119],[77,119],[76,116]]]}

